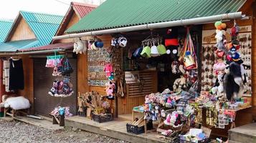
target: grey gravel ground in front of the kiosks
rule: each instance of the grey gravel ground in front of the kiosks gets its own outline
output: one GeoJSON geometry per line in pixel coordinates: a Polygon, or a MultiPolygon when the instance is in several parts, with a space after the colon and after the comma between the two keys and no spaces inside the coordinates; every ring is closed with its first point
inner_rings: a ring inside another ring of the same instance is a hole
{"type": "Polygon", "coordinates": [[[126,143],[100,134],[84,132],[80,129],[52,131],[23,122],[0,119],[0,142],[109,142],[126,143]]]}

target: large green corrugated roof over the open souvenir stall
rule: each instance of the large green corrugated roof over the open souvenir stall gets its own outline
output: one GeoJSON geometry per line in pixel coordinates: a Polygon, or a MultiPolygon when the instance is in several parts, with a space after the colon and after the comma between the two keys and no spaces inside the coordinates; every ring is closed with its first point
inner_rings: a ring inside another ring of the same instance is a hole
{"type": "Polygon", "coordinates": [[[79,33],[238,11],[246,0],[108,0],[65,31],[79,33]]]}

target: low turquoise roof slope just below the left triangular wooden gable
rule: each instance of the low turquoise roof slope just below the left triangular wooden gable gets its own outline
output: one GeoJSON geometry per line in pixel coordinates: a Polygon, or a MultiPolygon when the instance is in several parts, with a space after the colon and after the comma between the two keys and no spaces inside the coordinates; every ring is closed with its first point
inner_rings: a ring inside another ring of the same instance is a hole
{"type": "Polygon", "coordinates": [[[9,41],[0,44],[0,52],[18,51],[19,49],[26,49],[37,44],[39,44],[39,41],[37,39],[9,41]]]}

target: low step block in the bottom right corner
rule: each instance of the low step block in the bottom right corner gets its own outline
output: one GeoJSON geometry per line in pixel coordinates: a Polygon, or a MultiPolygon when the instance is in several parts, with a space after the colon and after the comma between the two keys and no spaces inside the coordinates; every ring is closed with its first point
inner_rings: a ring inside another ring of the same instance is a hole
{"type": "Polygon", "coordinates": [[[256,143],[256,123],[229,129],[229,140],[234,143],[256,143]]]}

